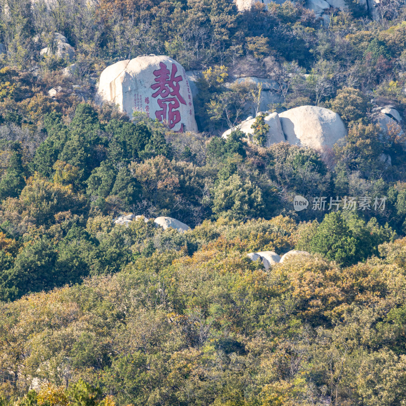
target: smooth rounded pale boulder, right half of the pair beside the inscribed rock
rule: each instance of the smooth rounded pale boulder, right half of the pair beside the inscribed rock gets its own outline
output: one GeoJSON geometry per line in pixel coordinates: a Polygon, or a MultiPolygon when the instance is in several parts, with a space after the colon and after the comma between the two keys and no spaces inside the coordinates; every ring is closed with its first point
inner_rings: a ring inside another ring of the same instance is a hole
{"type": "Polygon", "coordinates": [[[346,136],[341,117],[317,106],[300,106],[279,113],[282,130],[289,144],[325,150],[346,136]]]}

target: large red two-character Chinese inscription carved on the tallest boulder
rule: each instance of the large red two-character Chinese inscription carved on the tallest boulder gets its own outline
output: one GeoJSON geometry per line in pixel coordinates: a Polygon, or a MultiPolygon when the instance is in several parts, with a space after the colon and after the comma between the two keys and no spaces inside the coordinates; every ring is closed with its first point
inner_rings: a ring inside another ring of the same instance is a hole
{"type": "Polygon", "coordinates": [[[180,85],[182,76],[176,76],[178,68],[172,64],[172,72],[167,69],[163,62],[159,62],[159,69],[154,71],[155,82],[151,89],[156,90],[152,97],[162,97],[158,99],[158,105],[162,110],[155,112],[159,121],[167,121],[169,128],[174,128],[181,121],[180,104],[186,105],[186,101],[180,94],[180,85]],[[169,97],[172,96],[172,97],[169,97]]]}

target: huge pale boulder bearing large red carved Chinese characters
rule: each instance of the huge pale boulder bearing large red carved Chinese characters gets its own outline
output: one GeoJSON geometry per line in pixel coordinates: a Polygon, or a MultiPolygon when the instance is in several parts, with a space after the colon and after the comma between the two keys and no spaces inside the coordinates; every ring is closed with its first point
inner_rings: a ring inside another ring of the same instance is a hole
{"type": "Polygon", "coordinates": [[[96,101],[114,103],[130,117],[147,113],[174,131],[197,131],[186,72],[167,56],[139,56],[108,66],[100,75],[96,101]]]}

